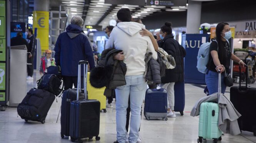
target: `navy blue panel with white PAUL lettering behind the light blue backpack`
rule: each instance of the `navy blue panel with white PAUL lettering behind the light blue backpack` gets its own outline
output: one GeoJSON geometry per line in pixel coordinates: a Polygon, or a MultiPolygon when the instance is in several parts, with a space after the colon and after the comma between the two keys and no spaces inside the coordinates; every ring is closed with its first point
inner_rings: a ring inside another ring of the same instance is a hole
{"type": "Polygon", "coordinates": [[[209,34],[182,35],[182,46],[187,53],[184,58],[185,83],[205,85],[205,74],[198,72],[196,68],[199,48],[205,42],[209,42],[209,34]]]}

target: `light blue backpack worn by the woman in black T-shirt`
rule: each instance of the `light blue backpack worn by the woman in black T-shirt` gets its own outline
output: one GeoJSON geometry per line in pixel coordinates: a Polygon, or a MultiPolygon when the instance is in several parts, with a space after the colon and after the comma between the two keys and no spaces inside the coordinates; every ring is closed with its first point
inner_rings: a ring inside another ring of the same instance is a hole
{"type": "MultiPolygon", "coordinates": [[[[218,42],[215,41],[218,45],[218,42]]],[[[228,41],[228,40],[227,40],[228,41]]],[[[229,41],[228,41],[229,44],[229,41]]],[[[197,54],[197,70],[201,73],[206,73],[207,72],[207,64],[209,62],[209,54],[210,54],[210,45],[211,42],[206,42],[202,44],[199,48],[198,54],[197,54]]],[[[219,49],[219,47],[218,47],[219,49]]]]}

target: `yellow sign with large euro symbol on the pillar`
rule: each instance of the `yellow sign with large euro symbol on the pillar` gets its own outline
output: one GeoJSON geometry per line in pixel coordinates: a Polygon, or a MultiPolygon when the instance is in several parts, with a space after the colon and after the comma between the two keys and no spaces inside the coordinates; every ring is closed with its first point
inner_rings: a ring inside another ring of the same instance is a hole
{"type": "Polygon", "coordinates": [[[41,50],[49,49],[49,11],[33,11],[33,30],[37,28],[37,38],[40,39],[41,50]]]}

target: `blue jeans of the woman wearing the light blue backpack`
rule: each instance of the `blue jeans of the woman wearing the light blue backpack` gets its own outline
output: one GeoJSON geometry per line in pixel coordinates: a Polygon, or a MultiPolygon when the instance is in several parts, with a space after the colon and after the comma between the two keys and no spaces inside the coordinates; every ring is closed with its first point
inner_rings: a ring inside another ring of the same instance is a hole
{"type": "MultiPolygon", "coordinates": [[[[218,93],[219,73],[209,70],[205,75],[205,82],[209,90],[209,94],[218,93]]],[[[226,85],[224,83],[224,74],[221,74],[221,93],[225,93],[226,85]]]]}

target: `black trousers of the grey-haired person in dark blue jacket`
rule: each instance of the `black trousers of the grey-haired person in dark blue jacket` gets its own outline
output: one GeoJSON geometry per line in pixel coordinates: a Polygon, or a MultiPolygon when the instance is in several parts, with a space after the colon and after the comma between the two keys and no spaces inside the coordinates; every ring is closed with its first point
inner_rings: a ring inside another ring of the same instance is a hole
{"type": "MultiPolygon", "coordinates": [[[[77,77],[78,76],[62,76],[64,83],[64,90],[72,89],[73,85],[77,88],[77,77]]],[[[81,87],[84,88],[84,76],[81,76],[81,87]]]]}

